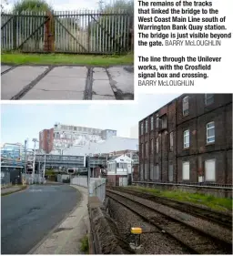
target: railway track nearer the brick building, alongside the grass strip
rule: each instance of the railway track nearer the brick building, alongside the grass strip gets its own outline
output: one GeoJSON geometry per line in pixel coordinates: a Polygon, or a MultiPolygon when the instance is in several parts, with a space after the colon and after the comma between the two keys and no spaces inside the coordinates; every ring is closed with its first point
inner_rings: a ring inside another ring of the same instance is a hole
{"type": "Polygon", "coordinates": [[[147,192],[139,192],[132,189],[117,189],[117,191],[127,192],[128,194],[137,196],[142,199],[155,201],[159,204],[168,206],[170,208],[181,210],[183,212],[187,212],[193,216],[201,218],[203,220],[208,220],[218,225],[221,225],[228,230],[232,230],[232,216],[228,214],[224,214],[215,210],[208,210],[202,207],[198,207],[195,205],[188,204],[186,202],[179,202],[177,200],[170,200],[167,198],[161,198],[156,195],[149,194],[147,192]]]}

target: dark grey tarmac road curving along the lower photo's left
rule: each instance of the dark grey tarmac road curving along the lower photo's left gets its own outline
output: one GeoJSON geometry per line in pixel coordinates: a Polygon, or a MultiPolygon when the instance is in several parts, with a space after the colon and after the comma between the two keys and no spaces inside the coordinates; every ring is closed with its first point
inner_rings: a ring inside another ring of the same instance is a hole
{"type": "Polygon", "coordinates": [[[2,197],[1,253],[25,254],[73,210],[80,193],[68,186],[32,185],[2,197]]]}

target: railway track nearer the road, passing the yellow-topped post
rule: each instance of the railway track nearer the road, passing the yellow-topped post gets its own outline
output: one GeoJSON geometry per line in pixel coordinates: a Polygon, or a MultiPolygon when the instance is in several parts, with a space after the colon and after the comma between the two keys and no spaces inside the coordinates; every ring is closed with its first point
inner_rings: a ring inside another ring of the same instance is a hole
{"type": "Polygon", "coordinates": [[[232,243],[223,241],[203,230],[162,213],[146,203],[130,198],[130,195],[106,189],[106,196],[133,211],[143,220],[163,230],[194,254],[232,254],[232,243]]]}

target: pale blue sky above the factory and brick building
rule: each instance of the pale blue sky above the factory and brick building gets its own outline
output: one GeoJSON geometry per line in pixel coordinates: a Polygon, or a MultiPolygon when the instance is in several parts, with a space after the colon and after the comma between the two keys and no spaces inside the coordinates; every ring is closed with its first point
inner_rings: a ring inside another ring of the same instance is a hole
{"type": "MultiPolygon", "coordinates": [[[[56,122],[87,128],[116,129],[117,136],[130,138],[130,129],[158,108],[178,97],[174,94],[140,95],[133,104],[5,104],[1,106],[1,145],[22,143],[56,122]]],[[[37,148],[37,147],[36,147],[37,148]]]]}

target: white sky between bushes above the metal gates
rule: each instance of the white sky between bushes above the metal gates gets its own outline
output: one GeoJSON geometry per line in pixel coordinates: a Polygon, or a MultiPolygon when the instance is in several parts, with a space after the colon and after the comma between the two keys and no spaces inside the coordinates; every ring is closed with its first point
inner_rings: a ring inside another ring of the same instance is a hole
{"type": "MultiPolygon", "coordinates": [[[[5,5],[6,10],[10,10],[18,0],[6,0],[8,5],[5,5]]],[[[103,0],[102,0],[103,1],[103,0]]],[[[104,3],[112,3],[113,0],[105,0],[104,3]]],[[[49,5],[52,5],[56,11],[69,11],[77,9],[97,9],[99,0],[46,0],[49,5]]]]}

